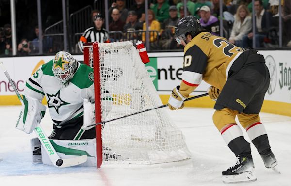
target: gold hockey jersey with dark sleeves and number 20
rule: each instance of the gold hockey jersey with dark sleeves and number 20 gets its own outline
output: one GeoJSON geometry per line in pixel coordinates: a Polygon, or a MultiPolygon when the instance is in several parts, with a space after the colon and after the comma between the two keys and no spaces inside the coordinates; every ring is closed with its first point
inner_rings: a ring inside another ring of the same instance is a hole
{"type": "Polygon", "coordinates": [[[188,97],[202,80],[222,90],[232,63],[242,51],[226,38],[199,33],[184,47],[180,93],[188,97]]]}

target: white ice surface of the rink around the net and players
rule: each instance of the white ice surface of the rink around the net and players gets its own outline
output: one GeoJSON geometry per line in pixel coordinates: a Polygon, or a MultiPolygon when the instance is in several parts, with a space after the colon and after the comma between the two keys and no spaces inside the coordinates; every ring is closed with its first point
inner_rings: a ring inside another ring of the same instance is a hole
{"type": "MultiPolygon", "coordinates": [[[[29,140],[14,128],[20,106],[0,107],[0,186],[225,186],[221,171],[235,162],[212,123],[213,109],[184,108],[169,111],[185,135],[192,159],[179,164],[152,167],[101,169],[88,167],[55,168],[32,164],[29,140]]],[[[281,174],[264,167],[252,145],[257,181],[235,186],[291,186],[291,117],[261,113],[281,174]]],[[[42,126],[50,134],[52,122],[46,113],[42,126]]],[[[244,134],[246,134],[244,132],[244,134]]],[[[249,139],[246,137],[246,140],[249,139]]]]}

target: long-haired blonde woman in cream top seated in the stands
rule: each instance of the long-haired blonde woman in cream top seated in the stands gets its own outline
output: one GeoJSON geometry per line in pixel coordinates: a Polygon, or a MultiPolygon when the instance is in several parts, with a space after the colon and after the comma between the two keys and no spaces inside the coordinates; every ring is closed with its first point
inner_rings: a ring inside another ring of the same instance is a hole
{"type": "Polygon", "coordinates": [[[252,18],[247,7],[242,4],[238,7],[229,42],[242,47],[242,36],[247,35],[252,29],[252,18]]]}

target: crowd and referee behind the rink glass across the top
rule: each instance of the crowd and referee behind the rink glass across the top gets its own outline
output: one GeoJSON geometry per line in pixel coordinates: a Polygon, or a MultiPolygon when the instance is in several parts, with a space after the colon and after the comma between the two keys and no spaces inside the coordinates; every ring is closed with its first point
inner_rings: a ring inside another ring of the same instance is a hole
{"type": "MultiPolygon", "coordinates": [[[[145,0],[109,1],[109,30],[105,29],[104,10],[91,12],[92,26],[84,30],[76,41],[73,53],[81,53],[83,43],[118,42],[137,40],[146,42],[145,0]],[[89,33],[90,32],[90,33],[89,33]]],[[[182,49],[174,38],[178,20],[187,15],[200,19],[206,31],[223,36],[238,47],[278,47],[279,0],[255,0],[255,23],[252,23],[252,0],[223,0],[223,34],[220,33],[219,0],[187,0],[185,11],[183,0],[148,0],[148,30],[150,50],[182,49]]],[[[282,46],[291,47],[291,0],[281,0],[282,46]]],[[[17,55],[25,56],[39,52],[39,28],[34,27],[34,39],[17,38],[17,55]]],[[[7,22],[0,27],[0,55],[11,55],[11,26],[7,22]]],[[[54,53],[62,48],[54,46],[54,38],[43,36],[43,52],[54,53]]]]}

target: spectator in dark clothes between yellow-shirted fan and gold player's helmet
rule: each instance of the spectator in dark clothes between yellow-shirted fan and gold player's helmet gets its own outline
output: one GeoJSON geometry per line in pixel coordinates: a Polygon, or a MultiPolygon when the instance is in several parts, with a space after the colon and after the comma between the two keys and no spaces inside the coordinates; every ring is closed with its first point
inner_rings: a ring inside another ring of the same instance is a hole
{"type": "Polygon", "coordinates": [[[175,26],[179,21],[179,18],[178,10],[175,5],[170,6],[169,14],[170,18],[166,19],[161,26],[160,44],[163,49],[171,49],[171,46],[176,46],[177,43],[176,40],[174,39],[174,31],[175,26]]]}

